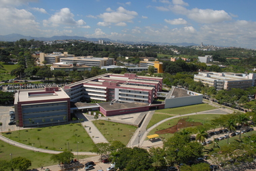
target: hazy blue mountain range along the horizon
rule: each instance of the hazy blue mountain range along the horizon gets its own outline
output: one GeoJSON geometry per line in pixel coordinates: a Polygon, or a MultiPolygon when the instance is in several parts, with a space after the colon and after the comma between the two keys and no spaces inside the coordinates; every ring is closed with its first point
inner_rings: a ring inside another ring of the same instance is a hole
{"type": "MultiPolygon", "coordinates": [[[[32,37],[32,36],[24,36],[22,34],[8,34],[5,36],[0,35],[0,41],[3,42],[15,42],[20,39],[26,40],[39,40],[39,41],[54,41],[54,40],[86,40],[89,42],[98,42],[98,40],[104,40],[105,42],[117,42],[110,40],[108,38],[86,38],[82,36],[53,36],[51,38],[44,38],[44,37],[32,37]]],[[[198,44],[193,43],[160,43],[160,42],[129,42],[129,41],[119,41],[119,43],[123,44],[162,44],[162,45],[174,45],[174,46],[198,46],[198,44]]]]}

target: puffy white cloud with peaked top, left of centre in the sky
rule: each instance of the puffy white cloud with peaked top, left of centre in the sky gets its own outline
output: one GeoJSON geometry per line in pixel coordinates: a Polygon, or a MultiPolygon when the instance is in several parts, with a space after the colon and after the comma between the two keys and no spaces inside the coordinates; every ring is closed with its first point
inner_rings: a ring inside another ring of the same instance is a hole
{"type": "Polygon", "coordinates": [[[69,8],[63,8],[61,11],[52,15],[48,20],[44,19],[44,26],[51,25],[57,27],[59,25],[85,25],[86,22],[83,19],[75,21],[74,15],[69,8]]]}

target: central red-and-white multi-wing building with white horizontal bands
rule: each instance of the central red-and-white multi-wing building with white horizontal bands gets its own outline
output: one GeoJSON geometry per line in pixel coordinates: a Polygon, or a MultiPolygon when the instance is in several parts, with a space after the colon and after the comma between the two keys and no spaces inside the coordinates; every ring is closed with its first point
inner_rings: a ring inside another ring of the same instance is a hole
{"type": "Polygon", "coordinates": [[[162,78],[136,74],[102,74],[64,87],[73,102],[80,99],[152,103],[162,91],[162,78]]]}

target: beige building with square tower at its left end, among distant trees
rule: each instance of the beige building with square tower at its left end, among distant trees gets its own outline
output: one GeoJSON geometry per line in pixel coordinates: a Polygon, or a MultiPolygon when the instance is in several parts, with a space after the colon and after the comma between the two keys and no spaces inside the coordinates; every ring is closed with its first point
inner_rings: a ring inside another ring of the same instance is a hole
{"type": "Polygon", "coordinates": [[[53,52],[53,54],[44,54],[40,52],[40,64],[42,64],[43,61],[46,61],[47,64],[54,64],[57,62],[60,62],[60,58],[69,58],[74,57],[73,54],[68,54],[67,52],[61,53],[61,52],[53,52]]]}

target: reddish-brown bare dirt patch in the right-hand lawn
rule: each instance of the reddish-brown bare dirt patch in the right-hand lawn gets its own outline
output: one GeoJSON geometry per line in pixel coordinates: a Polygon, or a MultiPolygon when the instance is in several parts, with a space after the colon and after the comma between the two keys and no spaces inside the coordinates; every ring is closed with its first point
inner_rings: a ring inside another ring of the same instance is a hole
{"type": "MultiPolygon", "coordinates": [[[[167,123],[167,124],[169,124],[169,123],[167,123]]],[[[186,119],[180,119],[178,121],[177,125],[174,125],[173,127],[169,127],[167,129],[162,129],[162,130],[156,131],[156,134],[175,133],[175,132],[177,132],[177,128],[179,131],[179,129],[181,129],[181,128],[194,127],[197,125],[203,125],[203,124],[201,122],[189,122],[189,121],[186,121],[186,119]]]]}

